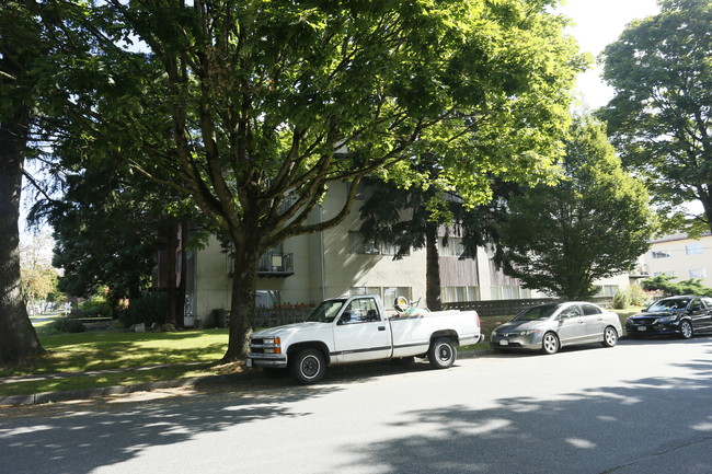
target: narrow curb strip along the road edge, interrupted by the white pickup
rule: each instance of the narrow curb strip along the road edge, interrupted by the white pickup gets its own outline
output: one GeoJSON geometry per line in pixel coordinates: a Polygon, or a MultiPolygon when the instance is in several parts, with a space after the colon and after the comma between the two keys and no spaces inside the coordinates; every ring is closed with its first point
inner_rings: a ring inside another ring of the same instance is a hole
{"type": "MultiPolygon", "coordinates": [[[[458,352],[459,359],[472,359],[478,356],[493,354],[492,349],[468,350],[458,352]]],[[[43,392],[31,395],[0,396],[0,406],[41,405],[53,402],[70,402],[72,400],[88,400],[101,396],[122,395],[134,392],[150,392],[162,389],[180,389],[188,386],[208,386],[234,383],[257,377],[262,371],[251,369],[245,372],[228,373],[222,375],[193,377],[187,379],[162,380],[159,382],[143,382],[133,385],[111,385],[95,389],[69,390],[64,392],[43,392]]]]}

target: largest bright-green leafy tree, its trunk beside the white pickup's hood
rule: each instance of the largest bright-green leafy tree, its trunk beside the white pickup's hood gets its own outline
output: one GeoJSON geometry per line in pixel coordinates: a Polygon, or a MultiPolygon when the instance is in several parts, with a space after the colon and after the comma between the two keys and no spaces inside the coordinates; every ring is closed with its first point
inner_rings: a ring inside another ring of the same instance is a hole
{"type": "Polygon", "coordinates": [[[582,66],[549,3],[107,0],[94,83],[68,91],[91,117],[72,139],[192,196],[231,241],[233,359],[261,254],[337,224],[364,175],[423,182],[427,150],[476,203],[490,172],[547,174],[582,66]],[[310,221],[338,181],[342,209],[310,221]]]}

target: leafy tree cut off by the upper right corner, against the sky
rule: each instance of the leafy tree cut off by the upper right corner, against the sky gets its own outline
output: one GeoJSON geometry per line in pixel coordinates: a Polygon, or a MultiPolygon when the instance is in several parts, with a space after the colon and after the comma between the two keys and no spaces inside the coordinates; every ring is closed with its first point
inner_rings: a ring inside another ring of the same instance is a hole
{"type": "Polygon", "coordinates": [[[699,233],[712,229],[712,2],[659,5],[604,51],[604,78],[616,95],[601,116],[668,228],[699,233]],[[703,212],[689,219],[681,205],[696,200],[703,212]]]}

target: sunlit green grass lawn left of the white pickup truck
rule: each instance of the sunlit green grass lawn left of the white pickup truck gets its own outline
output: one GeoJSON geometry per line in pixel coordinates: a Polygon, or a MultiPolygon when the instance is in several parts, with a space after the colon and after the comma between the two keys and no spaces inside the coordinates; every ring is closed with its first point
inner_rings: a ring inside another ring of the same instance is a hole
{"type": "Polygon", "coordinates": [[[128,385],[242,370],[240,363],[215,366],[228,345],[227,330],[180,333],[85,332],[41,336],[47,356],[32,365],[0,370],[0,395],[24,395],[128,385]],[[145,370],[147,366],[177,365],[145,370]],[[87,371],[116,371],[79,374],[87,371]],[[34,380],[8,379],[38,375],[34,380]]]}

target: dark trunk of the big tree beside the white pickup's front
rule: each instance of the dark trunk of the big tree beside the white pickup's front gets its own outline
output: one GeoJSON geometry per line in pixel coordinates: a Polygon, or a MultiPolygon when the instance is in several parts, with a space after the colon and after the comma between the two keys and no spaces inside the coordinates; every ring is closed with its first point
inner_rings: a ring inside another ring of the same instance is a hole
{"type": "Polygon", "coordinates": [[[260,253],[253,255],[249,248],[236,251],[230,303],[230,339],[228,350],[222,357],[223,362],[243,359],[250,351],[260,256],[260,253]]]}

